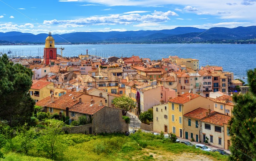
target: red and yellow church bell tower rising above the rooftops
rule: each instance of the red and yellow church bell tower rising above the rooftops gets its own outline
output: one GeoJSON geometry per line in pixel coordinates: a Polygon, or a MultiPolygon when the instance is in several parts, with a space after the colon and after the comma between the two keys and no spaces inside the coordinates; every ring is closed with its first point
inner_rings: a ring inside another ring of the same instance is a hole
{"type": "Polygon", "coordinates": [[[44,64],[49,65],[50,60],[57,60],[57,48],[54,46],[54,39],[49,32],[45,39],[44,64]]]}

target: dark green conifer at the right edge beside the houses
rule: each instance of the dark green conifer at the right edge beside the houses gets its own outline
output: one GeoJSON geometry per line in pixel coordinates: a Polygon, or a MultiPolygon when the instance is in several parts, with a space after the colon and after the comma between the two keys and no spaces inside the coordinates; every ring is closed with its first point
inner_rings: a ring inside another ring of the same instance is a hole
{"type": "Polygon", "coordinates": [[[235,106],[229,123],[231,136],[231,160],[251,161],[256,159],[256,69],[248,70],[249,91],[234,94],[235,106]]]}

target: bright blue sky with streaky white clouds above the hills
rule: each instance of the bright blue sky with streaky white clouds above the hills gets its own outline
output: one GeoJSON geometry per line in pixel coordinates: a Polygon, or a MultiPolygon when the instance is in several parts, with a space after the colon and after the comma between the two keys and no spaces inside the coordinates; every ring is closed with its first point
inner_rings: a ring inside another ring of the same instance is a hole
{"type": "Polygon", "coordinates": [[[0,32],[65,34],[256,25],[256,0],[0,0],[0,32]]]}

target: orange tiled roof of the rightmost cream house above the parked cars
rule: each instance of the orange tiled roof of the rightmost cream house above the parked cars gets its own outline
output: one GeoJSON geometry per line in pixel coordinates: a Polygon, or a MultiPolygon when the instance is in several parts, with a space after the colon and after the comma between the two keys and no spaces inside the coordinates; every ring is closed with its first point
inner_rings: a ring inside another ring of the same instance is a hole
{"type": "Polygon", "coordinates": [[[228,121],[230,120],[230,116],[223,115],[220,113],[215,113],[205,119],[203,119],[203,122],[208,122],[210,124],[216,124],[219,126],[224,126],[224,124],[228,124],[228,121]]]}

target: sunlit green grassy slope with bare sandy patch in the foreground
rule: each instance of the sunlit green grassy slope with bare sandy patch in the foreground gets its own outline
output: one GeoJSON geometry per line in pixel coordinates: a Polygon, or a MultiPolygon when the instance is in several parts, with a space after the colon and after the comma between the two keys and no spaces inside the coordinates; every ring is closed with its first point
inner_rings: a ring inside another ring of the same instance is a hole
{"type": "MultiPolygon", "coordinates": [[[[218,153],[205,152],[180,143],[170,143],[168,139],[142,132],[136,132],[129,137],[123,134],[107,136],[65,134],[63,140],[69,145],[64,153],[64,161],[226,160],[225,156],[218,153]]],[[[12,158],[9,156],[5,161],[50,161],[40,159],[42,158],[13,154],[12,158]]]]}

